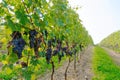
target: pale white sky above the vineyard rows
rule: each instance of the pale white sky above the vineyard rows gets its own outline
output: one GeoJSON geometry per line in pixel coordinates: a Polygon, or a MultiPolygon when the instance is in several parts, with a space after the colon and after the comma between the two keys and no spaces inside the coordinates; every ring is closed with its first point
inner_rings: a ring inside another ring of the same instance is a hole
{"type": "Polygon", "coordinates": [[[99,43],[114,31],[120,30],[120,0],[69,0],[78,10],[83,25],[99,43]]]}

